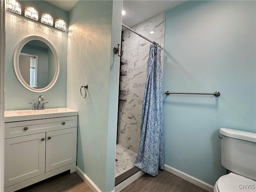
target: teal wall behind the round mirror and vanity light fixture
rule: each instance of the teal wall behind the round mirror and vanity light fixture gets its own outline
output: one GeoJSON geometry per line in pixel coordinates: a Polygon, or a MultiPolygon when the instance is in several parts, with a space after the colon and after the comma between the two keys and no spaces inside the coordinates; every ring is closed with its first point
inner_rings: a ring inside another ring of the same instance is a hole
{"type": "MultiPolygon", "coordinates": [[[[22,1],[31,3],[38,11],[42,4],[48,13],[55,17],[63,16],[67,21],[68,12],[44,1],[22,1]]],[[[25,5],[25,4],[24,4],[25,5]]],[[[66,65],[67,65],[67,32],[40,24],[12,12],[6,11],[6,64],[5,64],[5,110],[22,110],[32,108],[28,102],[36,102],[42,94],[48,108],[66,107],[66,65]],[[25,89],[17,80],[13,69],[13,54],[18,43],[25,37],[37,35],[46,38],[55,47],[60,60],[60,74],[56,84],[48,91],[35,93],[25,89]]]]}

